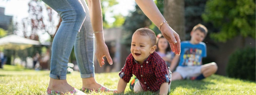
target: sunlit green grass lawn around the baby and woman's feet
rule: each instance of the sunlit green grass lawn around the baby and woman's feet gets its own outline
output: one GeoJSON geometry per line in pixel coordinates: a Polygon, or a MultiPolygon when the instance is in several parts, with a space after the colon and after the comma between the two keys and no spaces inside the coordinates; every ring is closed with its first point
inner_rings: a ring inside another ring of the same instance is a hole
{"type": "MultiPolygon", "coordinates": [[[[82,79],[79,72],[67,75],[71,86],[80,89],[82,79]]],[[[118,72],[98,73],[95,75],[98,83],[116,89],[119,80],[118,72]]],[[[0,95],[46,95],[49,83],[49,71],[27,70],[20,66],[4,65],[0,69],[0,95]]],[[[255,81],[232,79],[212,75],[201,81],[172,81],[170,95],[255,95],[255,81]]],[[[112,95],[110,92],[91,93],[91,95],[112,95]]],[[[127,85],[125,94],[135,95],[127,85]]],[[[136,95],[155,95],[151,92],[140,92],[136,95]]]]}

